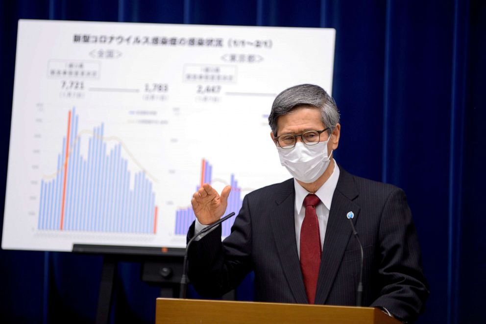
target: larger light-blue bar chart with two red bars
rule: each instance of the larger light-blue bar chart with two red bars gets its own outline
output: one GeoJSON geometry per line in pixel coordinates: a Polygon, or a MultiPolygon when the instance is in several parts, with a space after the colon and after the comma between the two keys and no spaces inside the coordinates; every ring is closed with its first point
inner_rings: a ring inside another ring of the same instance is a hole
{"type": "Polygon", "coordinates": [[[38,229],[155,234],[155,193],[145,172],[134,174],[131,189],[122,146],[118,143],[108,150],[103,123],[93,129],[84,158],[78,119],[73,108],[55,177],[41,180],[38,229]]]}

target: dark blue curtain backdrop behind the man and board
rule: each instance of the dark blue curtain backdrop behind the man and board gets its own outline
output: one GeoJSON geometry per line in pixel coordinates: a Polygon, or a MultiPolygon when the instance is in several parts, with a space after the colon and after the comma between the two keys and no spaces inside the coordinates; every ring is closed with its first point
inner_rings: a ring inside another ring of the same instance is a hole
{"type": "MultiPolygon", "coordinates": [[[[2,0],[2,209],[18,19],[336,28],[336,156],[408,195],[431,287],[419,323],[485,318],[486,1],[2,0]]],[[[101,265],[101,256],[0,251],[0,322],[93,322],[101,265]]],[[[116,288],[116,323],[153,323],[158,289],[141,282],[140,264],[121,263],[116,288]]],[[[251,291],[247,280],[238,298],[251,291]]]]}

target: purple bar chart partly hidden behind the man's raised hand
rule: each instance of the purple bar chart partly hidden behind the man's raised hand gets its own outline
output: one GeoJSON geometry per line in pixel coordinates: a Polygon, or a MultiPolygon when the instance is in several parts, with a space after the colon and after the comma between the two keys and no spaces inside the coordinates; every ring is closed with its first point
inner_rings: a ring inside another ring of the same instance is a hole
{"type": "MultiPolygon", "coordinates": [[[[205,184],[211,184],[212,182],[213,166],[206,160],[202,160],[201,164],[201,182],[196,186],[196,191],[205,184]]],[[[231,174],[230,178],[231,192],[228,196],[228,206],[226,207],[226,214],[235,212],[238,214],[243,205],[241,197],[241,188],[238,186],[238,181],[235,180],[234,174],[231,174]]],[[[189,227],[195,220],[195,214],[192,207],[178,208],[175,214],[175,234],[186,235],[189,227]]],[[[228,236],[231,232],[231,227],[235,222],[235,218],[230,218],[226,222],[222,223],[222,236],[228,236]]]]}

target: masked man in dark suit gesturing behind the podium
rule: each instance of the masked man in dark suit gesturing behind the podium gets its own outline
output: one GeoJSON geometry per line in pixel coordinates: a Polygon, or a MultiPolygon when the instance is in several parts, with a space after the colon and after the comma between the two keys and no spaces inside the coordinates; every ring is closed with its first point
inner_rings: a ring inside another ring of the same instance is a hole
{"type": "MultiPolygon", "coordinates": [[[[293,179],[247,194],[223,242],[220,226],[194,240],[189,278],[196,291],[221,296],[254,271],[257,301],[356,305],[361,248],[350,218],[364,250],[360,302],[413,321],[429,291],[404,192],[336,163],[339,111],[322,88],[305,84],[283,91],[268,120],[293,179]]],[[[197,219],[188,239],[219,220],[230,190],[226,186],[219,195],[204,184],[194,193],[197,219]]]]}

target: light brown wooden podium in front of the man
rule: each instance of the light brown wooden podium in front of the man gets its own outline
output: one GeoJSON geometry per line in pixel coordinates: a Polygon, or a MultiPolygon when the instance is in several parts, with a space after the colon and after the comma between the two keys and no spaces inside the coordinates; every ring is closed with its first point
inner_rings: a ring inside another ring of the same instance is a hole
{"type": "Polygon", "coordinates": [[[399,324],[371,307],[157,298],[155,323],[399,324]]]}

